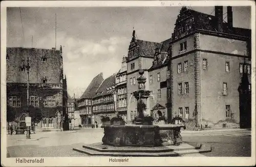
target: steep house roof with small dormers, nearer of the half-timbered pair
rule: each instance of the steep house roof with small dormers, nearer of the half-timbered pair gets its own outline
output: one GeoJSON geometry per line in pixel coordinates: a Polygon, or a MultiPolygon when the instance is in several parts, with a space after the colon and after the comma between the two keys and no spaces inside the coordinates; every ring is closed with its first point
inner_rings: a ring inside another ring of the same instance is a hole
{"type": "Polygon", "coordinates": [[[115,82],[116,82],[115,74],[106,78],[100,85],[100,87],[97,90],[96,95],[94,97],[112,94],[114,92],[114,89],[112,87],[115,87],[115,82]],[[109,88],[111,88],[111,89],[109,89],[109,88]]]}

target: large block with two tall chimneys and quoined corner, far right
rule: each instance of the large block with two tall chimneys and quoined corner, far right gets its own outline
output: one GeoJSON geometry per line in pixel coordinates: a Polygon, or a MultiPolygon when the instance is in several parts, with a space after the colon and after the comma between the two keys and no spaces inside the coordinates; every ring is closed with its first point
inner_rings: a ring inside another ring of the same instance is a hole
{"type": "Polygon", "coordinates": [[[239,123],[239,85],[243,73],[250,89],[250,30],[232,26],[232,8],[215,7],[215,16],[183,7],[172,41],[172,116],[197,126],[233,120],[239,123]]]}

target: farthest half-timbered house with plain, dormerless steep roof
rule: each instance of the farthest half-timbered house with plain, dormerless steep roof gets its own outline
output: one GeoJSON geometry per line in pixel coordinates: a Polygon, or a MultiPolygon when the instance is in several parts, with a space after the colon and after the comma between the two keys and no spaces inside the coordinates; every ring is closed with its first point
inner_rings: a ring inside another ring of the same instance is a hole
{"type": "Polygon", "coordinates": [[[92,99],[103,80],[103,73],[95,76],[90,82],[86,91],[84,91],[80,99],[77,100],[81,117],[81,124],[83,127],[90,127],[94,123],[94,116],[92,113],[92,99]]]}

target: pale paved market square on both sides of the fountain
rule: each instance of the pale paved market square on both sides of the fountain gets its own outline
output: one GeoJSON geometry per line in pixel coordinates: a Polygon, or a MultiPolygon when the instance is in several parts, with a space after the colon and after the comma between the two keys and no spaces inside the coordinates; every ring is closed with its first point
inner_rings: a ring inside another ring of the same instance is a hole
{"type": "MultiPolygon", "coordinates": [[[[184,143],[209,144],[212,151],[185,156],[250,156],[251,131],[182,131],[184,143]],[[225,148],[225,149],[223,149],[225,148]]],[[[7,135],[8,157],[82,157],[88,156],[73,151],[84,144],[101,142],[103,129],[78,129],[75,131],[41,132],[31,134],[32,139],[24,140],[25,135],[7,135]]]]}

